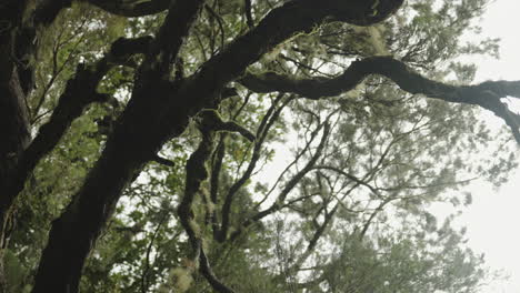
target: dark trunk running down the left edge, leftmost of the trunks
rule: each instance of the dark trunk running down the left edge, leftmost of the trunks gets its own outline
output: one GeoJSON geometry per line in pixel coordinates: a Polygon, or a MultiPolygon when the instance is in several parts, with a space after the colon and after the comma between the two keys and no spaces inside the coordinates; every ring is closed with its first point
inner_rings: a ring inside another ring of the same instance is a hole
{"type": "Polygon", "coordinates": [[[17,0],[0,3],[0,291],[7,291],[3,249],[13,225],[14,196],[9,186],[20,156],[30,143],[27,97],[34,88],[38,31],[51,24],[70,0],[17,0]]]}

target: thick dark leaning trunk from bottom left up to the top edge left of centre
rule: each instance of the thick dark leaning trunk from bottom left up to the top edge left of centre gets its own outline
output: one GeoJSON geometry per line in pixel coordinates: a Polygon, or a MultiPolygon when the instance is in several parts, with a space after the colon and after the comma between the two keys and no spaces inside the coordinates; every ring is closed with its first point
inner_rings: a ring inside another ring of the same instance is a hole
{"type": "MultiPolygon", "coordinates": [[[[163,107],[158,100],[171,91],[171,83],[163,78],[166,73],[169,75],[171,61],[177,58],[202,4],[201,0],[172,1],[171,13],[138,69],[134,92],[118,127],[108,138],[103,153],[77,196],[52,224],[38,267],[34,293],[78,291],[84,259],[113,213],[122,190],[137,178],[166,139],[161,139],[158,131],[150,131],[151,121],[157,122],[153,119],[157,110],[151,105],[163,107]],[[132,143],[131,148],[128,142],[132,143]]],[[[106,63],[100,64],[103,65],[106,63]]]]}

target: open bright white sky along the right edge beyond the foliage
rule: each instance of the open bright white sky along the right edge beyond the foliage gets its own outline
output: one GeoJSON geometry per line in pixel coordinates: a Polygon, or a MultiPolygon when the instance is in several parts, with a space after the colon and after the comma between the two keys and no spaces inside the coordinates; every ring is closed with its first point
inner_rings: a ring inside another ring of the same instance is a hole
{"type": "MultiPolygon", "coordinates": [[[[500,60],[479,58],[477,81],[520,80],[519,0],[496,0],[482,20],[483,34],[501,38],[500,60]]],[[[500,121],[490,118],[490,122],[500,121]]],[[[520,154],[520,153],[519,153],[520,154]]],[[[483,182],[472,185],[473,204],[463,213],[469,245],[486,253],[492,269],[502,269],[509,281],[497,281],[481,293],[520,292],[520,171],[493,190],[483,182]]]]}

